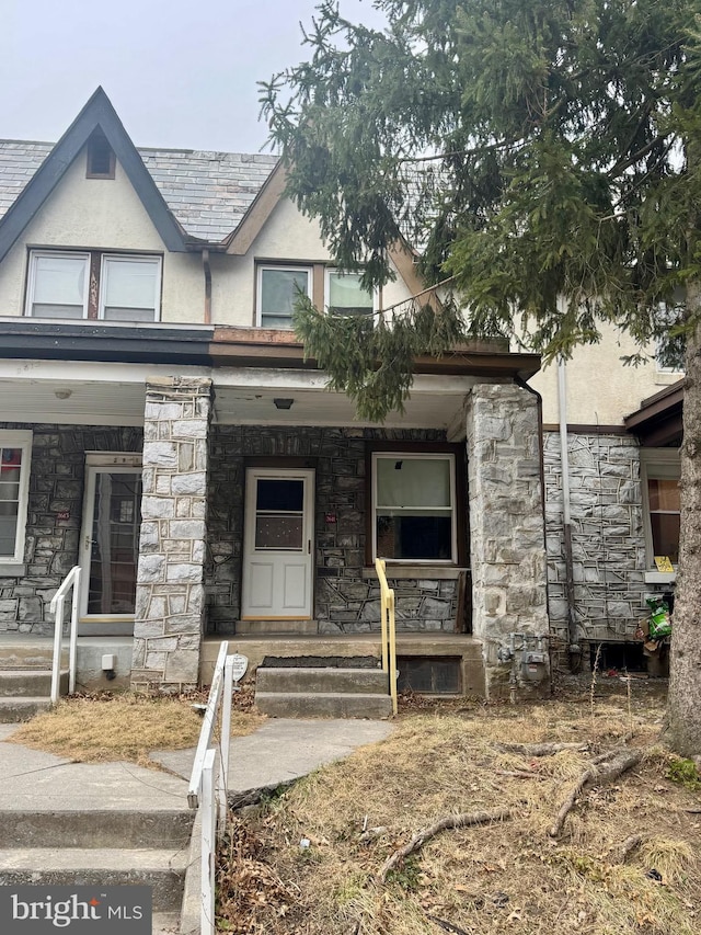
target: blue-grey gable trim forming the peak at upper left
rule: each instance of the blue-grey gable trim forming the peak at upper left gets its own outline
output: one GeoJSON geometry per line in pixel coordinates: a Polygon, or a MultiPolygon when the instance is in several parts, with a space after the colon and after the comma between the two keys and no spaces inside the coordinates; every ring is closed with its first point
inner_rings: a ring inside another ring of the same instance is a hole
{"type": "MultiPolygon", "coordinates": [[[[95,129],[101,129],[106,137],[165,247],[174,252],[187,250],[185,230],[165,204],[110,99],[102,88],[97,88],[0,220],[0,260],[4,259],[95,129]]],[[[34,158],[39,153],[41,150],[35,149],[34,158]]]]}

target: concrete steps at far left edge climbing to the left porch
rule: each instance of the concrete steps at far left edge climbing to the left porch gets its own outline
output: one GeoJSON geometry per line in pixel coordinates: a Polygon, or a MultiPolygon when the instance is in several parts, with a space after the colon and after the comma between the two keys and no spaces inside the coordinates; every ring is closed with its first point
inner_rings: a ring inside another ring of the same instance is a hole
{"type": "MultiPolygon", "coordinates": [[[[51,658],[53,647],[44,640],[0,643],[0,723],[30,720],[50,707],[51,658]]],[[[67,692],[68,670],[61,669],[59,693],[67,692]]]]}

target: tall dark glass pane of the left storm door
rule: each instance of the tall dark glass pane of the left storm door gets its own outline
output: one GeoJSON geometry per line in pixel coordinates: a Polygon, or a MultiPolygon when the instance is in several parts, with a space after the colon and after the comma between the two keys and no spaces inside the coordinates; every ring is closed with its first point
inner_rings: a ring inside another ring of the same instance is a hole
{"type": "Polygon", "coordinates": [[[141,475],[100,471],[95,478],[89,614],[135,611],[141,523],[141,475]]]}

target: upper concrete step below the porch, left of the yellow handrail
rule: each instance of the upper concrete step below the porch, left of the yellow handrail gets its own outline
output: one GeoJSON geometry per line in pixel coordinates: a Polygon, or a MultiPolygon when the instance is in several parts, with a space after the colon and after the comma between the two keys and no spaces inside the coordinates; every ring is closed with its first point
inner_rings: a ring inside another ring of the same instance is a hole
{"type": "Polygon", "coordinates": [[[256,692],[389,693],[389,676],[381,669],[263,666],[256,670],[255,680],[256,692]]]}

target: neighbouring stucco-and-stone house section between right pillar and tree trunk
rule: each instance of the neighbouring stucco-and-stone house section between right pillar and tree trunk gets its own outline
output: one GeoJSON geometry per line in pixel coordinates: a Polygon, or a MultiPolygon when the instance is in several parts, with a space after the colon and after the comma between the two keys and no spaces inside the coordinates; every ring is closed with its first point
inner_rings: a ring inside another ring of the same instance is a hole
{"type": "Polygon", "coordinates": [[[624,366],[634,351],[611,329],[530,380],[543,396],[553,642],[578,645],[586,663],[604,643],[613,666],[640,664],[634,632],[650,614],[645,598],[674,595],[679,552],[682,374],[654,356],[624,366]],[[656,557],[674,570],[660,571],[656,557]]]}

